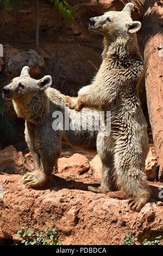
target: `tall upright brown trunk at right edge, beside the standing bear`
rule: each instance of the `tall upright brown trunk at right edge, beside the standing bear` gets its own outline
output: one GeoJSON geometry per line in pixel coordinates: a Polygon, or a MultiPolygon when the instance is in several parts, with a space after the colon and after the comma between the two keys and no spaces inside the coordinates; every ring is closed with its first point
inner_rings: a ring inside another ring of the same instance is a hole
{"type": "Polygon", "coordinates": [[[162,1],[145,1],[143,35],[145,41],[146,93],[153,141],[158,157],[159,178],[163,180],[163,46],[162,1]]]}

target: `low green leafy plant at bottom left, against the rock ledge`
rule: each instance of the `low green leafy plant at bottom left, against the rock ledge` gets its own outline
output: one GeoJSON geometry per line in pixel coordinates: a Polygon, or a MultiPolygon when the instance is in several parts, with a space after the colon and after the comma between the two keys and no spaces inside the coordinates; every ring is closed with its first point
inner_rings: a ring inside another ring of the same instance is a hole
{"type": "Polygon", "coordinates": [[[15,245],[62,245],[61,241],[58,240],[57,231],[55,229],[51,230],[49,225],[45,232],[40,231],[39,233],[35,233],[32,228],[25,230],[21,224],[16,236],[19,236],[23,240],[21,242],[14,242],[15,245]]]}

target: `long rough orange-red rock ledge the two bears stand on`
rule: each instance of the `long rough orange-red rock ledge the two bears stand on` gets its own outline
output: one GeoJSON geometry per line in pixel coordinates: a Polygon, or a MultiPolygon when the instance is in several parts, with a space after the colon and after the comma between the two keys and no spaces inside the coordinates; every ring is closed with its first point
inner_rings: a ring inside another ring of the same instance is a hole
{"type": "MultiPolygon", "coordinates": [[[[85,186],[88,184],[89,180],[85,186]]],[[[0,175],[0,239],[18,240],[15,234],[20,224],[36,232],[49,224],[58,231],[63,245],[122,245],[129,233],[140,244],[163,232],[161,184],[150,185],[150,202],[133,212],[128,200],[77,190],[71,181],[57,175],[40,190],[24,187],[21,175],[0,175]]]]}

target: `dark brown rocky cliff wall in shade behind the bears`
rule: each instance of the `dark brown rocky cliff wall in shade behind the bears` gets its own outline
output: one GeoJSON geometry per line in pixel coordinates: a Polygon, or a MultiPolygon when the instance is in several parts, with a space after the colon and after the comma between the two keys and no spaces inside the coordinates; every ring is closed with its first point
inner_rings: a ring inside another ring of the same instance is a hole
{"type": "MultiPolygon", "coordinates": [[[[99,5],[96,0],[69,2],[77,10],[74,21],[62,17],[50,1],[40,0],[39,54],[45,59],[45,65],[41,63],[41,68],[40,64],[32,65],[26,57],[30,49],[35,50],[34,2],[24,0],[18,11],[11,7],[4,10],[1,4],[1,43],[7,45],[4,48],[4,68],[0,75],[3,76],[3,80],[4,76],[14,77],[15,70],[19,71],[25,61],[33,71],[36,71],[33,72],[35,77],[51,75],[53,87],[70,96],[76,96],[82,86],[91,82],[101,64],[103,37],[87,31],[89,19],[102,15],[105,11],[121,10],[128,1],[101,0],[99,5]],[[14,56],[10,56],[8,45],[17,48],[14,56]]],[[[143,1],[133,2],[135,3],[133,19],[142,21],[143,1]]],[[[137,37],[143,54],[142,30],[137,37]]],[[[7,79],[5,81],[7,82],[7,79]]],[[[1,86],[4,85],[5,82],[2,82],[1,86]]],[[[146,96],[143,80],[140,84],[140,97],[145,111],[146,96]]]]}

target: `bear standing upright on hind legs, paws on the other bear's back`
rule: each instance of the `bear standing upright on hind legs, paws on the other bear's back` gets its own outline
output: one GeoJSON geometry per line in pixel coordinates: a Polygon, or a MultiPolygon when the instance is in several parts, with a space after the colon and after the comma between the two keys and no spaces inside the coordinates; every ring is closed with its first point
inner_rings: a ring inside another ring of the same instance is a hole
{"type": "Polygon", "coordinates": [[[90,19],[89,30],[104,36],[103,61],[92,83],[79,90],[77,100],[69,96],[65,100],[76,111],[92,107],[111,112],[110,136],[101,143],[101,130],[97,138],[97,151],[103,162],[102,184],[97,188],[90,186],[89,190],[129,198],[130,208],[139,211],[151,193],[145,173],[149,150],[147,123],[138,96],[143,60],[136,32],[141,23],[131,19],[133,7],[133,3],[128,3],[122,11],[108,11],[90,19]],[[104,147],[107,153],[110,151],[109,157],[103,154],[104,147]],[[116,186],[119,191],[115,191],[116,186]]]}

